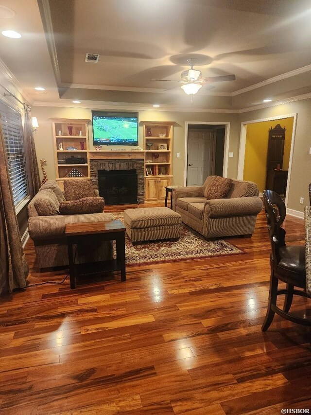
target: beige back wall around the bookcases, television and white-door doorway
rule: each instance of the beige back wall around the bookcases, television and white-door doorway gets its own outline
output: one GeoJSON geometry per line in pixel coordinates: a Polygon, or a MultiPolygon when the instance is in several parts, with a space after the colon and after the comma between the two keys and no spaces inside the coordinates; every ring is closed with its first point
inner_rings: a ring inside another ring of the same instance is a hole
{"type": "MultiPolygon", "coordinates": [[[[94,108],[96,109],[96,108],[94,108]]],[[[118,108],[116,108],[118,111],[118,108]]],[[[33,107],[32,115],[37,117],[39,128],[35,134],[35,145],[38,160],[47,161],[46,172],[49,179],[55,178],[53,155],[52,123],[50,118],[80,118],[91,119],[91,110],[87,108],[64,107],[33,107]]],[[[240,137],[240,123],[238,114],[195,113],[195,112],[166,112],[166,111],[139,111],[139,121],[174,121],[173,128],[173,184],[184,184],[185,170],[185,123],[186,121],[230,122],[229,151],[234,157],[229,158],[228,177],[237,177],[238,151],[240,137]],[[176,158],[176,153],[180,158],[176,158]]],[[[92,128],[89,127],[90,149],[93,148],[92,128]]],[[[139,145],[142,146],[142,126],[139,126],[139,145]]],[[[104,148],[104,146],[103,146],[104,148]]],[[[130,149],[131,147],[129,147],[130,149]]]]}

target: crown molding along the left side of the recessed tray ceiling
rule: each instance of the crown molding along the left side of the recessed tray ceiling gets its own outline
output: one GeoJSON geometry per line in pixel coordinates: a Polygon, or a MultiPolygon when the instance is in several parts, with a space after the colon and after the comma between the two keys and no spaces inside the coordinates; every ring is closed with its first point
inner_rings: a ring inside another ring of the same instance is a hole
{"type": "Polygon", "coordinates": [[[55,76],[55,80],[57,85],[61,84],[61,77],[56,53],[56,45],[55,39],[53,34],[53,25],[52,25],[52,17],[51,17],[51,10],[49,6],[48,0],[37,0],[38,6],[40,10],[41,20],[43,24],[43,29],[45,33],[45,37],[47,40],[48,50],[52,61],[52,68],[55,76]]]}

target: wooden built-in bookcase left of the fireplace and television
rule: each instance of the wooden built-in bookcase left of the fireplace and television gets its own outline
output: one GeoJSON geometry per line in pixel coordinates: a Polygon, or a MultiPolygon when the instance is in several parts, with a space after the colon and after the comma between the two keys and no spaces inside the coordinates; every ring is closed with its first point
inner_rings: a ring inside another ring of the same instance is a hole
{"type": "Polygon", "coordinates": [[[90,120],[51,119],[56,180],[89,178],[88,123],[90,120]]]}

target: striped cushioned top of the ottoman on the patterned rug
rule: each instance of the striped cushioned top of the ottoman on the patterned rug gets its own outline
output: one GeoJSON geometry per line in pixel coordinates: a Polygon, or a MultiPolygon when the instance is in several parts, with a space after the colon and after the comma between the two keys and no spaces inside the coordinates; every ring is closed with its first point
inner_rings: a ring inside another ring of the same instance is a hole
{"type": "Polygon", "coordinates": [[[181,224],[179,213],[166,207],[126,209],[123,215],[125,226],[131,229],[181,224]]]}

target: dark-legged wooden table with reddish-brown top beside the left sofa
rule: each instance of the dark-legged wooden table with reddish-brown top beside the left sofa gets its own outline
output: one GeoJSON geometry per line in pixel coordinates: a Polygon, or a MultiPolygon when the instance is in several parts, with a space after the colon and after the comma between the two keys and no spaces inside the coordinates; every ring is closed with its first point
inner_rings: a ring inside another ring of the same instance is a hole
{"type": "Polygon", "coordinates": [[[70,289],[75,288],[76,278],[80,275],[98,274],[106,271],[121,271],[121,281],[125,281],[125,226],[121,220],[104,222],[69,223],[65,228],[67,236],[70,289]],[[85,264],[75,264],[72,246],[78,244],[84,236],[102,235],[105,241],[116,241],[117,258],[85,264]]]}

